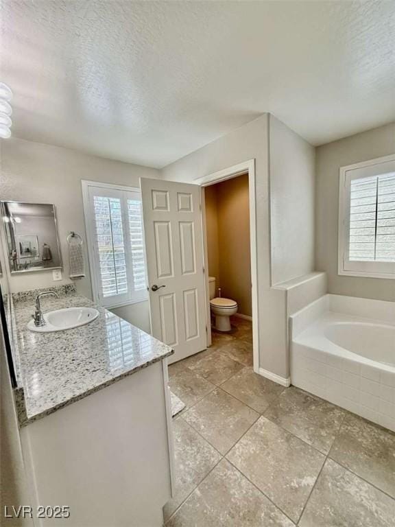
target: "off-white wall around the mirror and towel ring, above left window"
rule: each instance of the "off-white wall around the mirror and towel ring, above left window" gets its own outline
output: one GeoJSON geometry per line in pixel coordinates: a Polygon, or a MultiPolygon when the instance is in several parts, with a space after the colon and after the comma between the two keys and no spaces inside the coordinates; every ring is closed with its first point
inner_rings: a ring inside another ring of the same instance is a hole
{"type": "Polygon", "coordinates": [[[91,298],[81,180],[139,187],[140,177],[160,178],[160,172],[67,148],[12,138],[1,141],[0,177],[1,200],[55,205],[64,265],[62,282],[53,282],[51,271],[14,274],[10,277],[11,290],[23,291],[69,282],[67,235],[75,231],[84,239],[86,261],[86,277],[76,281],[77,290],[91,298]]]}

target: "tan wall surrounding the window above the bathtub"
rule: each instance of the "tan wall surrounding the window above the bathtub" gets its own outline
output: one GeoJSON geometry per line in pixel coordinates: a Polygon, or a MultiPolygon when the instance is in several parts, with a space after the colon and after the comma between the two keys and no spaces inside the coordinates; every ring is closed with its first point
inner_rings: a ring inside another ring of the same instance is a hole
{"type": "Polygon", "coordinates": [[[315,263],[328,273],[328,292],[395,300],[395,280],[337,274],[339,168],[395,152],[395,123],[355,134],[316,149],[315,263]]]}

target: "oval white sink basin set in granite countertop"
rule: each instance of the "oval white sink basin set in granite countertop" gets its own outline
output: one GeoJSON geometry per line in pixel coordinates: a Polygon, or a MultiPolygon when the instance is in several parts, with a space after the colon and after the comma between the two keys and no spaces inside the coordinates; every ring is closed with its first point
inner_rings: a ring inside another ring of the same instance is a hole
{"type": "Polygon", "coordinates": [[[34,320],[30,320],[27,328],[30,331],[48,333],[50,331],[62,331],[73,327],[84,326],[93,322],[99,316],[99,312],[94,307],[66,307],[57,309],[44,314],[45,325],[35,326],[34,320]]]}

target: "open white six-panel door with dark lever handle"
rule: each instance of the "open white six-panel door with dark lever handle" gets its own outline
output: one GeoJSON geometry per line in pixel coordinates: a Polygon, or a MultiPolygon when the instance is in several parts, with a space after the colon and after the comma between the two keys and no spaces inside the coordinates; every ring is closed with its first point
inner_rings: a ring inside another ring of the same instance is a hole
{"type": "Polygon", "coordinates": [[[152,335],[176,362],[206,349],[200,187],[141,178],[152,335]]]}

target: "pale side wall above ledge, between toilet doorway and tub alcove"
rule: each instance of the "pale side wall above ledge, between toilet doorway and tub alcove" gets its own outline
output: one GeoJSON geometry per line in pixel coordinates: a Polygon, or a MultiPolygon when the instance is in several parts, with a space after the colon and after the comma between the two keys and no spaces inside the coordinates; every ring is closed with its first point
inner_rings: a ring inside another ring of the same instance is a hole
{"type": "Polygon", "coordinates": [[[315,149],[270,115],[272,284],[314,270],[315,149]]]}

